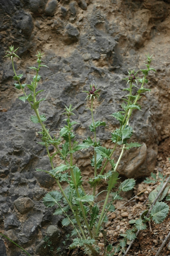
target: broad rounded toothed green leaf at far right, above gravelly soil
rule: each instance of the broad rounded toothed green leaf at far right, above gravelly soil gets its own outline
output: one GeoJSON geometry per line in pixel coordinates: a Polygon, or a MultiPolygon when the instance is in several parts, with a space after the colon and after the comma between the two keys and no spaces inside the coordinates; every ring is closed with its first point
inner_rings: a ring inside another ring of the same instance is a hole
{"type": "Polygon", "coordinates": [[[156,202],[151,210],[152,220],[158,224],[165,220],[167,214],[169,212],[169,206],[164,202],[156,202]]]}

